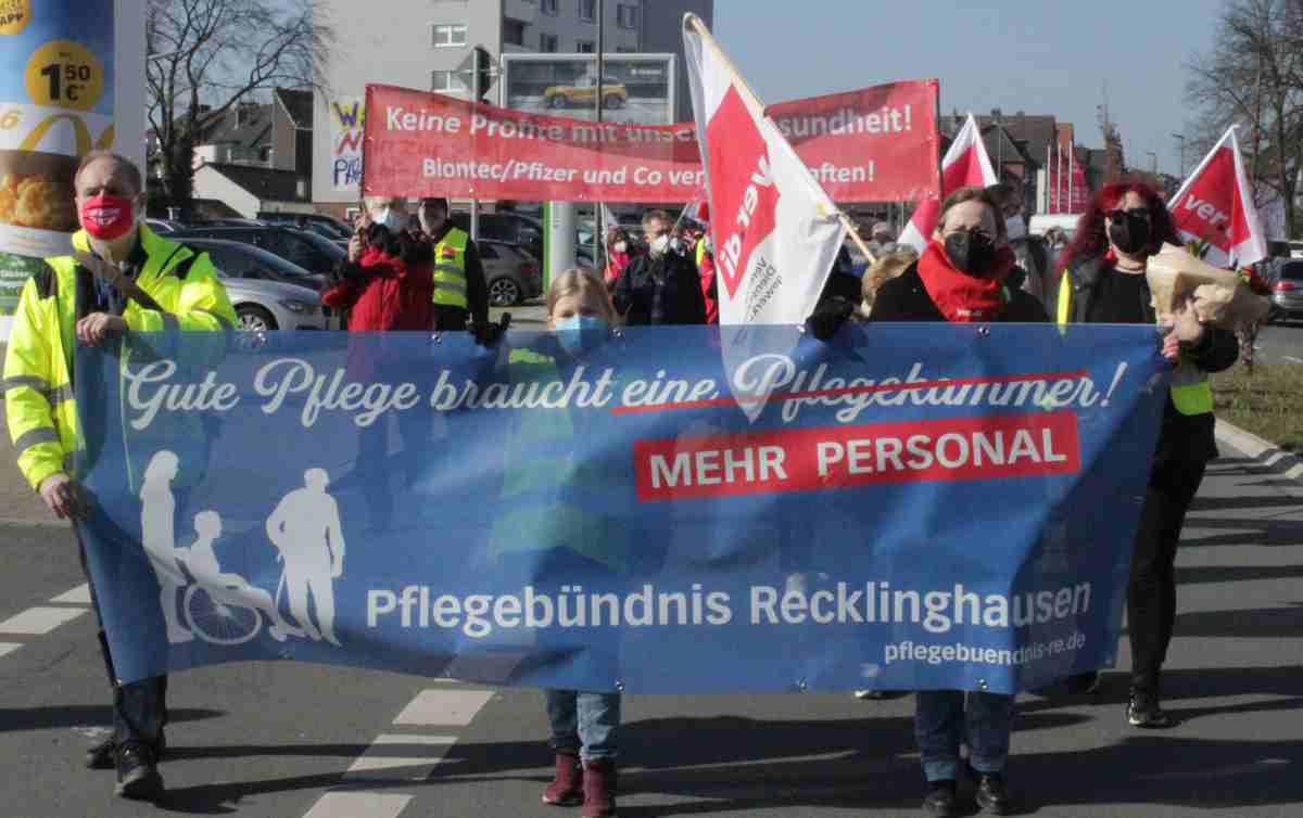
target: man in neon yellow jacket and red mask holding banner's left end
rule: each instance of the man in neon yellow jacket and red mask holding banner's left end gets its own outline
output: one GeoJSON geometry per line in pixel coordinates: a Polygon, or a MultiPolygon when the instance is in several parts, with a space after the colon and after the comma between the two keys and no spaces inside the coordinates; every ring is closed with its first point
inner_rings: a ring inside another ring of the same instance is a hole
{"type": "MultiPolygon", "coordinates": [[[[73,236],[73,247],[116,267],[136,289],[104,281],[74,255],[47,259],[23,285],[0,384],[18,469],[60,520],[82,518],[86,511],[76,483],[76,455],[85,448],[73,400],[76,345],[96,345],[126,332],[228,331],[236,320],[208,257],[141,224],[145,191],[130,160],[107,151],[89,154],[74,185],[82,229],[73,236]],[[139,292],[160,309],[139,303],[139,292]]],[[[85,568],[79,533],[78,546],[85,568]]],[[[94,582],[91,600],[98,615],[94,582]]],[[[86,763],[115,766],[117,795],[154,798],[163,791],[156,757],[167,720],[167,677],[117,684],[103,621],[100,628],[113,686],[113,736],[87,750],[86,763]]]]}

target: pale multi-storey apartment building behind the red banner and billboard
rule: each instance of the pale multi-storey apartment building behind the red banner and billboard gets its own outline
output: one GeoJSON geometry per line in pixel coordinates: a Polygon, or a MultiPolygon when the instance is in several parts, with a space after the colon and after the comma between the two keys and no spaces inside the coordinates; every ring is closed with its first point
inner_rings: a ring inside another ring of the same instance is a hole
{"type": "MultiPolygon", "coordinates": [[[[357,202],[366,83],[378,82],[469,96],[472,49],[503,53],[597,51],[598,0],[319,0],[317,13],[336,46],[318,82],[314,109],[313,198],[321,210],[357,202]]],[[[711,25],[714,0],[605,0],[606,53],[675,53],[675,119],[692,119],[683,65],[681,20],[693,12],[711,25]]],[[[487,90],[498,102],[496,83],[487,90]]]]}

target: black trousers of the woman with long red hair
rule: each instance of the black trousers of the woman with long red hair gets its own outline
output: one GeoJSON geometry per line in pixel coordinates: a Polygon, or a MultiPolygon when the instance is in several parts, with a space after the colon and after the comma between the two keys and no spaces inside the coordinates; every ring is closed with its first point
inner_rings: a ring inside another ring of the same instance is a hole
{"type": "Polygon", "coordinates": [[[1149,474],[1127,586],[1131,686],[1138,690],[1158,692],[1177,619],[1177,546],[1207,468],[1204,461],[1170,460],[1149,474]]]}

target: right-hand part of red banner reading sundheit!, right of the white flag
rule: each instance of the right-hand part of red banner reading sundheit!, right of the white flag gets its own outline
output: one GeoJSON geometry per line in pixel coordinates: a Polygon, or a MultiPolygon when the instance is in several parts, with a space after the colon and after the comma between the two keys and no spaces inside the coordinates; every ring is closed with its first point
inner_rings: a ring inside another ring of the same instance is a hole
{"type": "Polygon", "coordinates": [[[878,85],[769,106],[834,202],[902,202],[939,186],[937,81],[878,85]]]}

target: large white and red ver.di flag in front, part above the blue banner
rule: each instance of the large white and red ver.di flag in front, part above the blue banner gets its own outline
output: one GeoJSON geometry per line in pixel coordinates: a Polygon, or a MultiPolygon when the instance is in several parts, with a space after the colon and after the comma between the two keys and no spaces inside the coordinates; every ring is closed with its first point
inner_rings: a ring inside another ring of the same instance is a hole
{"type": "Polygon", "coordinates": [[[684,17],[705,165],[721,324],[801,324],[846,224],[764,106],[693,14],[684,17]]]}

